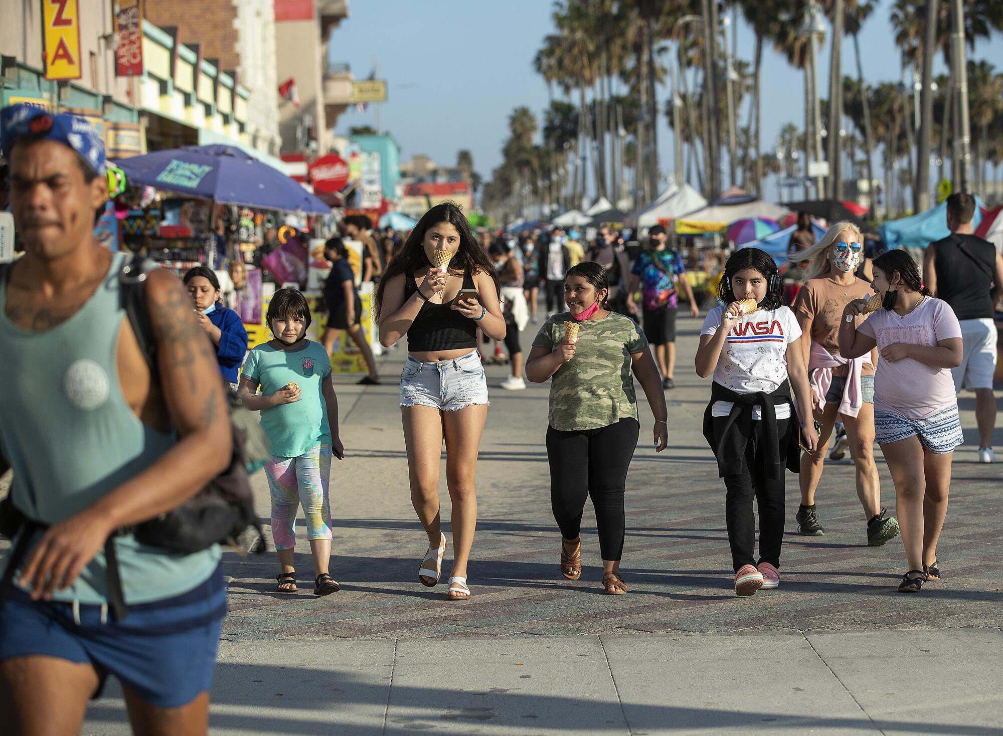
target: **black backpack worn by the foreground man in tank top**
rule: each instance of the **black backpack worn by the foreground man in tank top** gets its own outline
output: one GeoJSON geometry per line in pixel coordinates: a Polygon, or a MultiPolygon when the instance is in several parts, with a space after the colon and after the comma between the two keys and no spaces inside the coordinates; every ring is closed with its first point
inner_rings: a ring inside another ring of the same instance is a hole
{"type": "MultiPolygon", "coordinates": [[[[4,278],[5,271],[6,269],[0,268],[0,278],[4,278]]],[[[158,381],[156,341],[146,307],[144,282],[147,273],[143,259],[133,258],[127,261],[118,275],[119,295],[121,306],[149,367],[150,380],[158,381]]],[[[238,539],[249,527],[253,527],[258,538],[251,551],[266,551],[267,543],[254,509],[248,458],[250,455],[255,464],[267,459],[268,439],[260,424],[237,396],[232,391],[228,392],[228,396],[233,450],[227,468],[180,506],[134,526],[120,528],[105,543],[108,604],[115,620],[120,621],[125,617],[125,600],[118,577],[114,535],[132,533],[142,544],[182,555],[202,551],[216,543],[230,544],[238,553],[244,554],[238,539]]],[[[46,524],[25,516],[14,506],[9,495],[0,502],[0,533],[13,539],[18,532],[22,532],[8,561],[3,581],[0,582],[0,598],[12,584],[14,571],[27,554],[31,535],[45,526],[46,524]]]]}

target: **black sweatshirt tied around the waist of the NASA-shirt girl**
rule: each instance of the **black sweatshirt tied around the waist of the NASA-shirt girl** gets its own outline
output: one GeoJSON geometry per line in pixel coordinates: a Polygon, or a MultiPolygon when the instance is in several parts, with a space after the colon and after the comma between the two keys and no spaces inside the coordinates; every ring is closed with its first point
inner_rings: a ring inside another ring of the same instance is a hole
{"type": "Polygon", "coordinates": [[[790,400],[790,384],[784,381],[772,393],[759,391],[756,393],[735,393],[725,388],[717,381],[710,387],[710,403],[703,413],[703,436],[714,451],[717,458],[717,470],[721,477],[741,472],[742,460],[745,457],[745,445],[752,436],[752,407],[758,406],[762,411],[762,422],[766,440],[765,459],[766,477],[782,478],[783,468],[792,472],[800,470],[800,449],[797,431],[797,414],[790,400]],[[718,436],[714,433],[714,404],[718,401],[730,401],[731,411],[728,413],[724,427],[718,436]],[[786,433],[786,447],[780,447],[783,437],[778,436],[776,427],[776,406],[790,404],[790,429],[786,433]]]}

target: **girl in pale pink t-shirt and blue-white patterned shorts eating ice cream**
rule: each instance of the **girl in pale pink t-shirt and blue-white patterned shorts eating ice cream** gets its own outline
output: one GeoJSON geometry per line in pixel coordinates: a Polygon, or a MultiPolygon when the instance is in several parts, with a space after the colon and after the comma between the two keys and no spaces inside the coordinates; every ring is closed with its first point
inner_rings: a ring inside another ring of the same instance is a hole
{"type": "Polygon", "coordinates": [[[954,448],[962,442],[951,368],[961,364],[961,326],[954,312],[920,281],[905,251],[875,259],[873,286],[881,309],[855,327],[867,299],[847,305],[840,353],[865,355],[878,347],[875,434],[898,497],[899,525],[909,571],[900,593],[940,580],[937,540],[947,514],[954,448]]]}

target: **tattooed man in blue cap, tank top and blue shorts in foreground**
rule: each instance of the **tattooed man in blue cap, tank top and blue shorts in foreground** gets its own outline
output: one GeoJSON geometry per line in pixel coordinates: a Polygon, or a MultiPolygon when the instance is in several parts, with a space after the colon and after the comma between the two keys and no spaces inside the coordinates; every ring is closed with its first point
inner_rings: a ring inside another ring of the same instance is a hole
{"type": "Polygon", "coordinates": [[[151,376],[121,306],[125,256],[93,236],[108,185],[89,122],[13,105],[0,147],[25,248],[0,266],[0,474],[14,471],[0,529],[16,539],[0,583],[5,733],[79,733],[112,674],[136,733],[205,734],[226,613],[220,550],[112,534],[228,465],[213,350],[181,282],[153,270],[151,376]]]}

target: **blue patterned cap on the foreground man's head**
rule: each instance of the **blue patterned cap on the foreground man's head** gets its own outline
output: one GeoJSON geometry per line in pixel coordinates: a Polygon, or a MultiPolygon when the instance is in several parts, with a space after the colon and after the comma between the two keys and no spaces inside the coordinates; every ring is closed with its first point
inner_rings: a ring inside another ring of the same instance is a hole
{"type": "Polygon", "coordinates": [[[0,152],[10,158],[18,138],[56,140],[76,151],[94,173],[104,173],[104,143],[89,121],[68,113],[55,114],[34,105],[14,104],[0,110],[0,152]]]}

